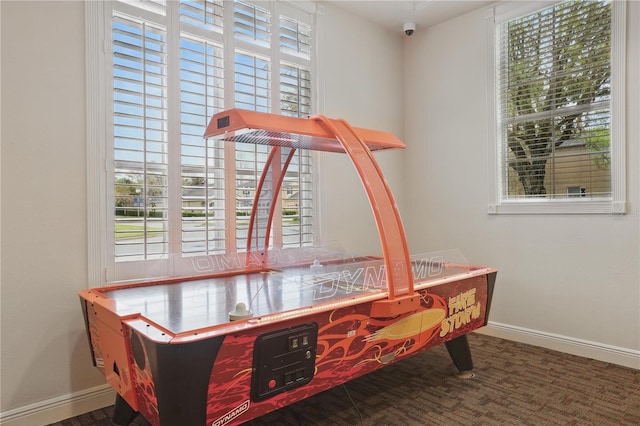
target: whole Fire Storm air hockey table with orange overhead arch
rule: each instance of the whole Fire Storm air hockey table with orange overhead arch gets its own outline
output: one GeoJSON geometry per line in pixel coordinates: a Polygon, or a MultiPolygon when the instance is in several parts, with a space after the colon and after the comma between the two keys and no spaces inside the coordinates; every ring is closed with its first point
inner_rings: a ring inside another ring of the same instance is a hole
{"type": "Polygon", "coordinates": [[[113,420],[240,424],[444,343],[473,368],[466,335],[487,323],[497,271],[456,252],[411,255],[373,151],[395,136],[324,116],[228,110],[205,137],[271,147],[246,250],[176,257],[176,276],[92,288],[80,301],[94,365],[117,392],[113,420]],[[273,247],[296,149],[347,154],[376,220],[381,256],[273,247]]]}

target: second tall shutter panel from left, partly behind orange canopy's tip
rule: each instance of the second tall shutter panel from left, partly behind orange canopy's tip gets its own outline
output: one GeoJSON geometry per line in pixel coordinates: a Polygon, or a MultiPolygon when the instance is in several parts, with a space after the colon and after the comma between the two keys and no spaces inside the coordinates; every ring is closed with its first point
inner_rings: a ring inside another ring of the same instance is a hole
{"type": "MultiPolygon", "coordinates": [[[[204,10],[203,10],[204,12],[204,10]]],[[[180,40],[182,253],[225,252],[224,147],[202,134],[224,107],[223,48],[183,34],[180,40]]]]}

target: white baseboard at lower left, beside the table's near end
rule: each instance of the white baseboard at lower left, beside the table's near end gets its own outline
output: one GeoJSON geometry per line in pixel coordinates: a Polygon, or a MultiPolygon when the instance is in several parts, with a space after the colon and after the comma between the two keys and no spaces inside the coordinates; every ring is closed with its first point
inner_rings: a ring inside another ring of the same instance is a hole
{"type": "Polygon", "coordinates": [[[96,386],[0,413],[0,425],[48,425],[113,405],[115,397],[116,394],[111,386],[96,386]]]}

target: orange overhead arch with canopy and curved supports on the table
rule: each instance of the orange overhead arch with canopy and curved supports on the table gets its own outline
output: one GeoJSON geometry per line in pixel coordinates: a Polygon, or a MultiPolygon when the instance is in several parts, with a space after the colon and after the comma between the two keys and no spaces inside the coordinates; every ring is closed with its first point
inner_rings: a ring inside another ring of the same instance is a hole
{"type": "MultiPolygon", "coordinates": [[[[385,262],[385,278],[388,298],[374,301],[372,317],[393,317],[418,309],[420,298],[415,293],[411,259],[400,213],[391,189],[384,179],[371,151],[404,148],[405,145],[393,134],[350,126],[345,120],[329,119],[322,115],[309,118],[286,117],[256,111],[231,109],[215,114],[205,131],[205,138],[220,137],[223,140],[271,145],[271,155],[260,179],[251,214],[250,238],[247,250],[264,243],[263,265],[269,243],[269,229],[275,214],[276,200],[289,160],[276,161],[281,150],[311,149],[346,153],[362,181],[371,209],[373,210],[385,262]],[[280,164],[275,166],[275,163],[280,164]],[[272,184],[268,185],[271,179],[272,184]],[[275,183],[275,185],[274,185],[275,183]],[[266,207],[267,187],[274,188],[269,202],[268,216],[260,211],[266,207]],[[261,235],[260,224],[267,217],[261,235]],[[264,241],[260,241],[261,237],[264,241]]],[[[286,152],[286,151],[285,151],[286,152]]],[[[293,155],[292,152],[290,155],[293,155]]],[[[260,253],[259,253],[260,254],[260,253]]]]}

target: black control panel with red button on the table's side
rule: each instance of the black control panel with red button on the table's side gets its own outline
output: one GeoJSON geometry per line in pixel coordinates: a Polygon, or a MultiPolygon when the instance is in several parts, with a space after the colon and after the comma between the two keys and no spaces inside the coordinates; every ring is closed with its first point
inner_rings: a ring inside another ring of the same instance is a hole
{"type": "Polygon", "coordinates": [[[318,345],[315,322],[258,336],[253,349],[251,399],[262,401],[313,378],[318,345]]]}

